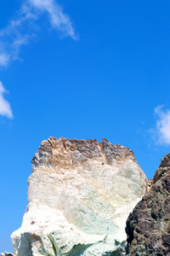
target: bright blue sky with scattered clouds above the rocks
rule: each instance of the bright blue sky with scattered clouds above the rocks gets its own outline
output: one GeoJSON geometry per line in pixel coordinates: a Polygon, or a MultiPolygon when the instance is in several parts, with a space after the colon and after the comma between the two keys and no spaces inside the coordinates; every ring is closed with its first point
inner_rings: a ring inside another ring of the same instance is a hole
{"type": "Polygon", "coordinates": [[[148,178],[170,152],[170,2],[2,0],[0,252],[48,137],[106,137],[148,178]]]}

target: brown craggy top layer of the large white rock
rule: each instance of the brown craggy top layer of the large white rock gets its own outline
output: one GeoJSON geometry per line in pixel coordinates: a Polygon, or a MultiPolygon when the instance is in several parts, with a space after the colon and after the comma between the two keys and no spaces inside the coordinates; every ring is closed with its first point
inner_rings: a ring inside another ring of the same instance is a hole
{"type": "Polygon", "coordinates": [[[82,166],[88,160],[101,159],[102,163],[107,165],[126,159],[136,161],[132,150],[120,144],[113,145],[105,138],[98,143],[96,139],[49,137],[48,140],[42,141],[31,162],[33,169],[37,166],[58,166],[68,169],[82,166]]]}

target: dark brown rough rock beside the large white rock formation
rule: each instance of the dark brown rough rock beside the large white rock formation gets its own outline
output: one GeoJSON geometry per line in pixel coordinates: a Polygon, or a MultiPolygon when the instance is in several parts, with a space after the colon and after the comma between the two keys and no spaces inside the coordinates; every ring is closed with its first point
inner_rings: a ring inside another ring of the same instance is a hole
{"type": "Polygon", "coordinates": [[[170,255],[170,154],[127,219],[127,255],[170,255]]]}

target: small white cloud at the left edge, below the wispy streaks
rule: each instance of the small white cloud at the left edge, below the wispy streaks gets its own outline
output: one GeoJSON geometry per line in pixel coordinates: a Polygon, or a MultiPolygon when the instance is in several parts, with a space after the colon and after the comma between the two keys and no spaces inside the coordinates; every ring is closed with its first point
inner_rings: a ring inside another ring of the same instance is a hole
{"type": "Polygon", "coordinates": [[[3,98],[3,93],[8,92],[4,89],[2,82],[0,81],[0,114],[8,117],[9,119],[13,118],[13,113],[10,107],[10,104],[7,100],[3,98]]]}

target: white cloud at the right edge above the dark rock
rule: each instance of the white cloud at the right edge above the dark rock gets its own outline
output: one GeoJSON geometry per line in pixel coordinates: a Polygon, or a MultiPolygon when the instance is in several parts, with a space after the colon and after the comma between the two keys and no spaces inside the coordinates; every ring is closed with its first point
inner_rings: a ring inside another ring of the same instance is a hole
{"type": "Polygon", "coordinates": [[[170,144],[170,109],[163,110],[163,106],[155,108],[156,129],[154,137],[157,144],[170,144]]]}

